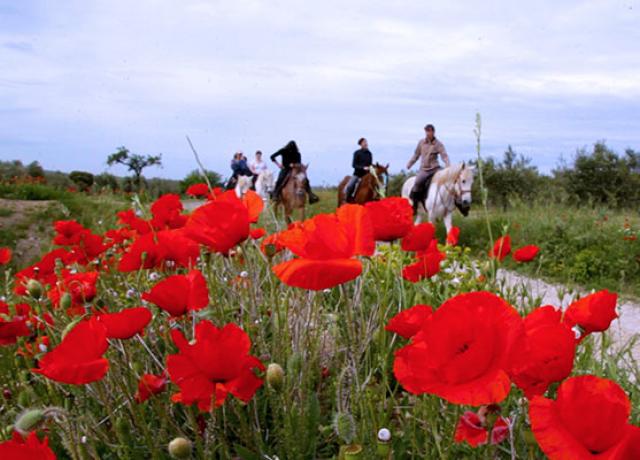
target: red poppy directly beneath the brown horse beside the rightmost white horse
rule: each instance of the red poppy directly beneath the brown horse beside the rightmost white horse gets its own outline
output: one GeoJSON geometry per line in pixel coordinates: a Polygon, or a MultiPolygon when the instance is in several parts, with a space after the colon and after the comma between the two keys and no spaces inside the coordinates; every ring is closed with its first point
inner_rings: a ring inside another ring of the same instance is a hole
{"type": "Polygon", "coordinates": [[[393,241],[403,238],[413,228],[413,210],[409,201],[390,197],[365,204],[373,222],[376,241],[393,241]]]}

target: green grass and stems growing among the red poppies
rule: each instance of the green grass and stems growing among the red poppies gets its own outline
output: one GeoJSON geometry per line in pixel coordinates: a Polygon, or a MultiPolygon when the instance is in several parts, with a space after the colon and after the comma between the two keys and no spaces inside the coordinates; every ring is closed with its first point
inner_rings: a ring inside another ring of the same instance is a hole
{"type": "MultiPolygon", "coordinates": [[[[321,198],[310,213],[335,208],[334,193],[322,191],[321,198]]],[[[110,197],[65,196],[62,202],[60,212],[67,218],[78,218],[101,232],[114,225],[115,210],[125,205],[110,197]]],[[[588,213],[565,212],[566,219],[559,209],[552,213],[553,218],[543,219],[542,208],[536,212],[514,209],[507,214],[492,212],[490,222],[496,229],[494,234],[508,224],[514,245],[542,243],[549,237],[549,226],[555,228],[554,225],[569,232],[565,238],[582,234],[595,241],[602,237],[617,241],[612,236],[617,228],[614,222],[620,223],[624,216],[610,216],[605,221],[609,223],[600,230],[604,233],[589,235],[596,230],[570,227],[586,225],[588,213]]],[[[41,218],[50,221],[56,216],[41,218]]],[[[265,216],[264,223],[270,230],[283,226],[282,222],[271,220],[268,211],[265,216]]],[[[389,428],[393,435],[396,459],[543,458],[539,448],[527,442],[526,405],[518,390],[512,390],[501,403],[502,414],[515,420],[513,443],[473,449],[453,442],[458,417],[470,408],[435,396],[411,395],[394,378],[394,352],[406,341],[386,332],[384,327],[398,311],[417,303],[438,306],[458,293],[481,289],[503,295],[522,313],[539,305],[539,299],[526,292],[501,292],[490,276],[483,279],[472,270],[455,269],[486,258],[488,244],[482,233],[486,224],[478,215],[456,221],[462,226],[462,243],[470,248],[448,248],[443,271],[417,284],[399,276],[411,256],[400,251],[398,244],[379,245],[376,256],[365,260],[364,272],[354,282],[320,292],[280,283],[271,266],[282,255],[274,260],[265,258],[256,241],[243,243],[235,256],[203,257],[197,268],[207,279],[210,305],[193,319],[171,321],[151,307],[154,319],[145,335],[113,341],[106,354],[110,361],[107,376],[89,385],[62,385],[34,375],[29,369],[36,365],[41,353],[17,356],[15,346],[0,347],[0,385],[5,398],[9,395],[0,407],[0,427],[9,428],[0,431],[0,438],[10,436],[10,426],[22,411],[54,406],[64,414],[47,425],[50,443],[59,458],[165,459],[169,441],[183,436],[194,442],[196,458],[335,459],[345,445],[345,427],[336,430],[336,418],[347,420],[347,431],[353,431],[354,441],[364,448],[363,459],[378,458],[376,433],[382,427],[389,428]],[[175,353],[169,330],[180,328],[190,337],[192,320],[199,319],[209,319],[219,326],[239,324],[251,338],[253,355],[265,365],[278,363],[284,368],[282,386],[265,384],[246,404],[230,398],[221,408],[204,414],[172,403],[171,394],[177,389],[174,385],[148,402],[136,404],[133,395],[140,375],[161,373],[165,357],[175,353]]],[[[545,258],[560,254],[552,251],[553,241],[543,246],[545,258]]],[[[573,242],[565,245],[569,252],[579,248],[573,242]]],[[[544,260],[541,258],[539,268],[535,268],[540,273],[546,267],[544,260]]],[[[108,306],[114,311],[139,306],[143,304],[141,294],[157,282],[157,277],[172,273],[104,270],[91,305],[108,306]]],[[[34,311],[51,310],[55,326],[47,330],[50,348],[60,341],[71,321],[63,309],[52,309],[46,299],[18,297],[10,284],[5,286],[4,295],[12,305],[28,302],[34,311]]],[[[640,371],[630,346],[613,347],[606,336],[605,340],[590,336],[578,348],[573,374],[593,373],[615,379],[632,399],[631,420],[637,424],[640,392],[636,391],[636,382],[640,371]]],[[[555,397],[555,387],[551,388],[550,397],[555,397]]]]}

